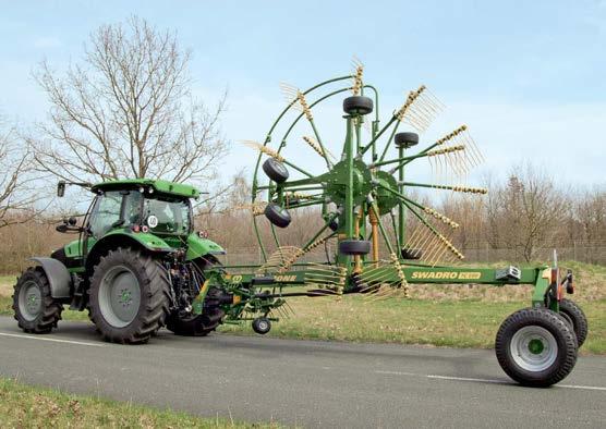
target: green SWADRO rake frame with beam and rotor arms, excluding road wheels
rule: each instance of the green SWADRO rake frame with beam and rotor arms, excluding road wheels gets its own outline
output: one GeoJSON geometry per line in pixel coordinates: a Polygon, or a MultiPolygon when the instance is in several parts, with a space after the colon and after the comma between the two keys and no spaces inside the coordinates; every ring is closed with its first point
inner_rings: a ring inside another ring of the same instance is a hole
{"type": "MultiPolygon", "coordinates": [[[[419,225],[425,228],[433,235],[434,240],[444,246],[446,249],[444,252],[447,252],[456,259],[463,258],[462,254],[443,234],[441,231],[444,230],[440,230],[432,221],[437,219],[441,226],[444,224],[453,226],[457,225],[456,222],[438,213],[436,210],[409,198],[405,195],[407,187],[437,188],[472,194],[485,193],[484,189],[475,187],[404,181],[405,167],[415,160],[448,156],[448,154],[465,149],[468,151],[476,150],[476,147],[465,148],[463,145],[452,144],[455,137],[466,130],[464,125],[414,155],[407,154],[405,149],[409,146],[398,145],[397,157],[393,159],[387,158],[399,126],[402,123],[407,123],[409,125],[412,124],[413,128],[419,130],[420,123],[426,122],[426,118],[423,117],[423,109],[425,109],[425,112],[431,110],[427,106],[432,106],[432,102],[436,106],[435,101],[431,98],[429,101],[423,101],[423,97],[427,95],[424,86],[420,87],[416,91],[409,93],[405,103],[393,112],[383,127],[379,126],[379,93],[374,86],[362,82],[361,66],[357,66],[353,74],[322,82],[306,90],[287,88],[287,93],[289,93],[288,106],[279,113],[270,126],[263,144],[252,143],[251,145],[259,152],[252,182],[251,209],[253,211],[254,232],[259,244],[264,263],[226,266],[223,268],[227,270],[227,274],[221,271],[210,277],[211,283],[220,283],[221,287],[227,289],[234,296],[233,303],[231,303],[227,310],[226,322],[252,320],[259,314],[268,317],[270,320],[277,320],[278,317],[274,317],[272,311],[283,306],[286,298],[289,296],[326,296],[363,293],[361,283],[368,286],[373,283],[373,279],[380,279],[380,283],[396,289],[402,286],[402,283],[404,285],[414,283],[475,283],[497,286],[532,284],[534,285],[532,306],[547,307],[558,311],[557,294],[558,290],[561,289],[559,275],[557,271],[546,266],[522,269],[509,266],[502,269],[493,269],[443,265],[437,263],[435,260],[429,262],[414,261],[402,257],[401,253],[405,248],[408,238],[407,212],[410,212],[419,225]],[[344,82],[350,84],[328,90],[327,94],[319,96],[313,102],[307,102],[307,97],[316,91],[344,82]],[[366,99],[364,97],[365,91],[373,96],[371,100],[373,110],[373,120],[369,126],[371,137],[367,143],[363,142],[362,127],[365,120],[364,114],[369,112],[360,109],[346,111],[343,115],[346,137],[340,160],[336,162],[336,160],[329,157],[318,126],[314,121],[312,109],[332,97],[346,97],[350,91],[353,93],[352,98],[366,99]],[[415,111],[414,108],[417,105],[420,110],[415,111]],[[281,137],[276,138],[275,134],[278,132],[278,125],[286,122],[289,111],[295,109],[299,110],[298,114],[290,124],[284,126],[281,137]],[[318,164],[326,166],[327,171],[324,173],[314,174],[308,172],[283,156],[289,137],[292,137],[295,126],[302,120],[306,120],[311,126],[314,137],[304,137],[304,139],[319,155],[320,160],[318,164]],[[387,144],[379,151],[378,142],[383,136],[388,136],[387,144]],[[277,142],[275,149],[270,147],[274,142],[277,142]],[[450,143],[450,145],[447,146],[445,143],[450,143]],[[365,156],[369,157],[367,162],[364,162],[365,156]],[[279,161],[286,168],[296,171],[301,177],[283,182],[267,180],[267,183],[263,183],[264,175],[260,167],[264,157],[279,161]],[[390,167],[389,171],[380,170],[387,166],[390,167]],[[395,176],[396,174],[397,177],[395,176]],[[305,199],[299,199],[296,195],[302,192],[311,192],[311,194],[306,195],[305,199]],[[269,223],[271,243],[264,243],[263,240],[263,221],[260,218],[264,213],[267,216],[267,211],[264,211],[263,207],[268,205],[277,206],[281,210],[312,206],[319,207],[322,208],[324,225],[302,247],[296,248],[294,253],[291,252],[289,255],[282,255],[286,254],[286,250],[280,244],[276,224],[269,223]],[[337,206],[338,210],[331,210],[330,205],[337,206]],[[391,210],[396,210],[397,216],[391,210]],[[392,237],[389,236],[385,222],[381,220],[387,213],[391,214],[392,237]],[[375,226],[371,225],[369,229],[372,231],[369,233],[367,231],[367,218],[371,219],[371,224],[373,221],[375,223],[375,226]],[[331,225],[331,223],[335,223],[335,225],[331,225]],[[384,242],[385,249],[390,256],[390,260],[387,260],[387,263],[385,260],[377,258],[378,250],[373,252],[373,257],[364,254],[352,255],[337,252],[335,263],[326,265],[326,267],[331,267],[331,272],[329,274],[324,272],[320,275],[325,280],[328,279],[327,283],[329,286],[312,290],[302,287],[310,285],[310,283],[317,286],[317,281],[310,281],[310,270],[317,269],[318,263],[300,262],[301,256],[328,240],[335,238],[339,243],[362,242],[366,236],[368,241],[373,242],[374,248],[377,247],[379,238],[384,242]],[[269,247],[274,248],[272,253],[268,250],[269,247]],[[278,262],[276,262],[275,258],[277,254],[280,255],[278,262]],[[373,274],[371,278],[364,279],[364,271],[368,270],[373,274]],[[359,280],[359,278],[362,278],[362,280],[359,280]],[[331,287],[336,284],[339,286],[331,287]]],[[[477,156],[474,157],[478,158],[477,156]]],[[[203,296],[198,302],[202,302],[202,299],[203,296]]],[[[198,305],[198,308],[202,311],[201,305],[198,305]]]]}

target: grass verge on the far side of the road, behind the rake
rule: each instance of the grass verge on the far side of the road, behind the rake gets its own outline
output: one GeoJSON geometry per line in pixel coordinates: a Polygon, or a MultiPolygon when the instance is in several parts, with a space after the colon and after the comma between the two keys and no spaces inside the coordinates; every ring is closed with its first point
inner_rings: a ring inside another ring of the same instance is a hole
{"type": "MultiPolygon", "coordinates": [[[[500,265],[502,266],[502,263],[500,265]]],[[[606,267],[563,262],[574,271],[572,296],[585,311],[590,334],[581,353],[606,354],[606,267]]],[[[0,315],[12,315],[14,277],[0,278],[0,315]]],[[[291,298],[294,316],[274,323],[268,335],[288,339],[493,347],[502,320],[530,304],[531,286],[413,285],[412,299],[368,303],[363,296],[291,298]]],[[[86,312],[64,319],[88,320],[86,312]]],[[[249,323],[220,332],[253,334],[249,323]]]]}

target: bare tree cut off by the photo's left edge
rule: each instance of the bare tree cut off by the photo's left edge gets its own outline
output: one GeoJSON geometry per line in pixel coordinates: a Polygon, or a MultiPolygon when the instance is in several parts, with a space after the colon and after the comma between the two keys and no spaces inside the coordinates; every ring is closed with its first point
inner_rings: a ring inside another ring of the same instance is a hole
{"type": "Polygon", "coordinates": [[[0,228],[26,222],[35,213],[32,156],[0,118],[0,228]]]}

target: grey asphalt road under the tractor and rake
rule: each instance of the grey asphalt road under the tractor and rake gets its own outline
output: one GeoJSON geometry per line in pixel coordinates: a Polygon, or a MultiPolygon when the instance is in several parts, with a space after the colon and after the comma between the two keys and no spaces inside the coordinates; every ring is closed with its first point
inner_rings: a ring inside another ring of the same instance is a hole
{"type": "Polygon", "coordinates": [[[123,346],[85,322],[27,335],[0,317],[0,376],[302,427],[606,427],[606,357],[580,357],[560,384],[529,389],[509,381],[492,351],[168,331],[123,346]]]}

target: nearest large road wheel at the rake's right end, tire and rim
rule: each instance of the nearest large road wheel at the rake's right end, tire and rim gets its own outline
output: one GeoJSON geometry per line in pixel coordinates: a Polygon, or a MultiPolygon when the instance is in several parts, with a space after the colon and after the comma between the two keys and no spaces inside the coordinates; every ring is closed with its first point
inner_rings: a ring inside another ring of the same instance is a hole
{"type": "Polygon", "coordinates": [[[574,332],[559,315],[546,308],[524,308],[500,326],[495,353],[513,380],[547,388],[570,373],[578,347],[574,332]]]}

